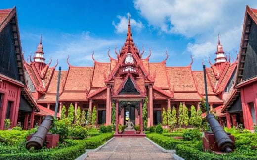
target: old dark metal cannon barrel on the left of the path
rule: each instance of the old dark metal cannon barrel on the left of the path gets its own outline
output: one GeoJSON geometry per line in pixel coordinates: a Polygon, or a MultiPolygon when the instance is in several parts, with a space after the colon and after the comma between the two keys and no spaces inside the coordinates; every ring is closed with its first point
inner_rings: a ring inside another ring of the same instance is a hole
{"type": "Polygon", "coordinates": [[[40,127],[37,129],[37,132],[32,135],[29,141],[27,141],[27,149],[30,149],[32,147],[34,147],[34,149],[36,150],[42,149],[46,134],[48,133],[50,126],[52,125],[52,120],[53,117],[50,115],[44,117],[44,120],[40,127]]]}

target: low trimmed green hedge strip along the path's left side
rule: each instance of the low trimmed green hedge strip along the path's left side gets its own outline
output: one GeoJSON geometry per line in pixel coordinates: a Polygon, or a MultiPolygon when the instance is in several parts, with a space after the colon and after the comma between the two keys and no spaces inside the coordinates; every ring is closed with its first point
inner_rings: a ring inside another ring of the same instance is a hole
{"type": "Polygon", "coordinates": [[[75,140],[72,142],[73,146],[61,149],[45,149],[31,153],[0,154],[0,160],[74,160],[84,154],[85,149],[97,148],[112,137],[112,133],[107,133],[85,140],[75,140]]]}

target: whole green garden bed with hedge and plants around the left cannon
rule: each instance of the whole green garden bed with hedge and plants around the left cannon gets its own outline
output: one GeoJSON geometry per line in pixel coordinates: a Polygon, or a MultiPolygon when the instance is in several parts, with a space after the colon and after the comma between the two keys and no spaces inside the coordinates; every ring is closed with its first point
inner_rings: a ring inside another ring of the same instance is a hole
{"type": "MultiPolygon", "coordinates": [[[[95,149],[113,137],[112,133],[96,135],[84,140],[65,140],[56,148],[43,148],[42,150],[28,151],[25,148],[27,131],[20,131],[18,141],[7,143],[0,139],[0,160],[74,160],[85,153],[86,149],[95,149]],[[25,133],[24,133],[25,132],[25,133]],[[12,145],[11,145],[12,143],[12,145]]],[[[19,133],[15,133],[19,135],[19,133]]],[[[5,135],[8,134],[4,134],[5,135]]],[[[15,137],[15,136],[14,136],[15,137]]],[[[16,138],[14,138],[16,139],[16,138]]]]}

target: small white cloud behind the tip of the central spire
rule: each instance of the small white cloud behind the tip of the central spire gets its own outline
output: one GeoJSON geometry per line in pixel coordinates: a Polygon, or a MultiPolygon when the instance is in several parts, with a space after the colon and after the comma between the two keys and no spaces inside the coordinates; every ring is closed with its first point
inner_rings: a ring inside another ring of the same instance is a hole
{"type": "MultiPolygon", "coordinates": [[[[112,25],[115,27],[117,33],[125,33],[128,29],[128,22],[129,22],[129,13],[127,13],[127,16],[120,16],[118,15],[117,18],[120,20],[117,24],[112,21],[112,25]]],[[[133,29],[141,30],[143,28],[143,24],[141,21],[136,21],[135,19],[130,18],[130,24],[133,27],[133,29]]]]}

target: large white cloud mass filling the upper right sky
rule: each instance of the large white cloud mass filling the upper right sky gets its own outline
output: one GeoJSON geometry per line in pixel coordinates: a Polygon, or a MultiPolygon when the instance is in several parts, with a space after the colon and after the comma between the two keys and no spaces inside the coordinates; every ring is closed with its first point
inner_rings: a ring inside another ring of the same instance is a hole
{"type": "Polygon", "coordinates": [[[193,38],[187,51],[196,58],[216,51],[217,35],[225,52],[238,50],[245,6],[250,0],[135,0],[134,7],[154,29],[193,38]]]}

